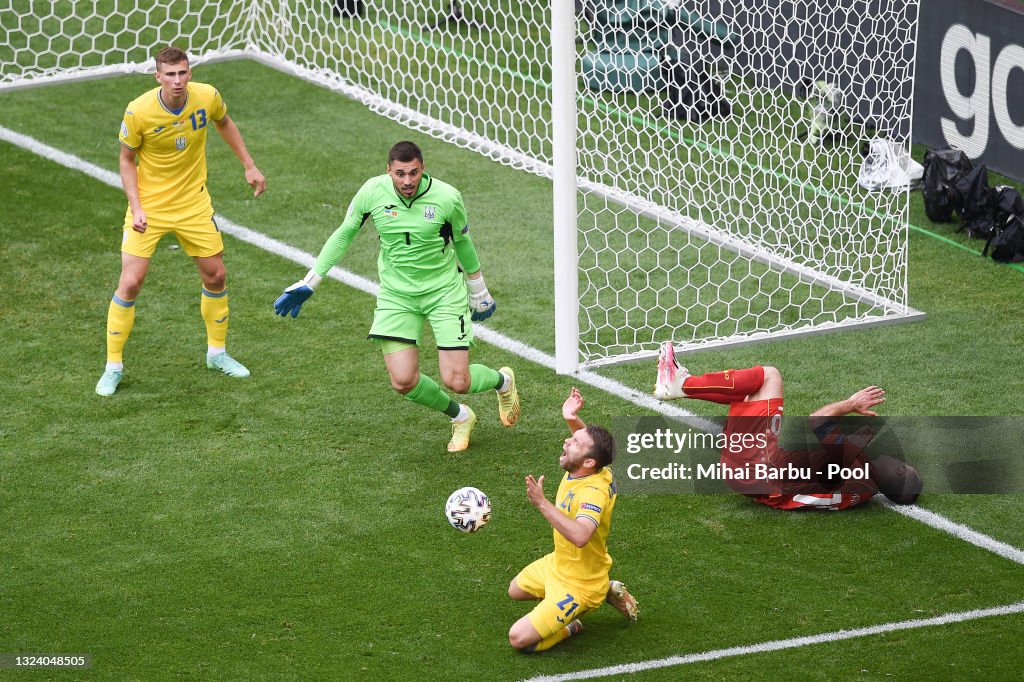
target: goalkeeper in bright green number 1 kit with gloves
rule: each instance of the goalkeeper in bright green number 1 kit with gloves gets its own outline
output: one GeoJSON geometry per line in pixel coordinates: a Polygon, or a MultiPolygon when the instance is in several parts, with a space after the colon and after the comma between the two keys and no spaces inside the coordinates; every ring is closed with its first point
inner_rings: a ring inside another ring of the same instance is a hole
{"type": "Polygon", "coordinates": [[[413,142],[391,147],[387,174],[367,180],[359,188],[313,268],[274,301],[274,312],[299,314],[367,218],[373,218],[380,236],[380,291],[370,338],[381,346],[392,388],[452,418],[449,452],[469,446],[476,415],[420,374],[420,336],[427,321],[437,341],[444,385],[456,393],[497,391],[502,423],[514,425],[519,419],[515,374],[507,367],[496,371],[469,364],[472,323],[489,317],[497,305],[480,272],[462,195],[423,172],[423,154],[413,142]]]}

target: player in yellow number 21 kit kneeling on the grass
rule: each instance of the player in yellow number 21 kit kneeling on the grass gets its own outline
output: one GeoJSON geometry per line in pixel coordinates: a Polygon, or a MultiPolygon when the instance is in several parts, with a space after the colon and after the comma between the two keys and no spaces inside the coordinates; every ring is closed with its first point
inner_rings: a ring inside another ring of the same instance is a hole
{"type": "Polygon", "coordinates": [[[583,629],[580,616],[607,602],[630,621],[637,602],[618,581],[608,580],[608,531],[615,506],[615,480],[608,465],[615,441],[608,431],[578,416],[584,400],[575,388],[562,406],[572,436],[558,464],[565,470],[555,503],[544,496],[544,476],[526,476],[526,496],[554,528],[555,551],[529,564],[509,583],[509,596],[540,599],[509,630],[509,644],[543,651],[583,629]]]}

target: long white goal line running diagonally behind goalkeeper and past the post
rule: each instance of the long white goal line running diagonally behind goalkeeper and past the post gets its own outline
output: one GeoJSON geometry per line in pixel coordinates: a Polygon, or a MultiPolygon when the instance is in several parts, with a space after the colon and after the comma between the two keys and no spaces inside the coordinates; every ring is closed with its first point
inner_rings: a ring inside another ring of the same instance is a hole
{"type": "MultiPolygon", "coordinates": [[[[80,159],[76,156],[68,154],[67,152],[61,152],[56,147],[50,146],[49,144],[40,142],[34,137],[23,135],[19,132],[0,126],[0,140],[10,142],[15,146],[19,146],[44,159],[60,164],[66,168],[71,168],[72,170],[85,173],[89,177],[93,177],[104,184],[111,185],[112,187],[116,187],[118,189],[121,188],[121,176],[117,173],[104,170],[95,164],[85,161],[84,159],[80,159]]],[[[222,231],[231,235],[236,239],[252,244],[253,246],[259,247],[264,251],[268,251],[294,263],[298,263],[303,267],[312,267],[313,262],[316,260],[312,254],[296,249],[295,247],[289,246],[284,242],[279,242],[278,240],[267,237],[261,232],[239,225],[223,216],[217,217],[217,225],[222,231]]],[[[355,274],[354,272],[350,272],[344,268],[335,266],[330,272],[328,272],[328,276],[372,296],[377,295],[378,284],[376,282],[355,274]]],[[[545,353],[520,341],[516,341],[515,339],[488,329],[483,325],[475,325],[473,331],[476,337],[482,341],[486,341],[487,343],[513,353],[514,355],[518,355],[523,359],[527,359],[542,367],[548,368],[552,372],[555,371],[555,358],[553,355],[545,353]]],[[[697,417],[693,415],[693,413],[677,408],[674,404],[656,400],[654,397],[640,393],[636,389],[614,381],[613,379],[608,379],[607,377],[602,377],[601,375],[594,374],[593,372],[586,370],[581,371],[577,375],[577,379],[580,383],[588,384],[599,390],[605,391],[606,393],[622,397],[637,407],[650,410],[651,412],[660,413],[666,417],[679,419],[694,428],[703,429],[713,433],[717,433],[721,430],[721,427],[718,424],[715,424],[710,420],[697,417]]],[[[1024,551],[1007,545],[1006,543],[1001,543],[993,538],[989,538],[988,536],[969,528],[966,525],[954,523],[944,516],[926,511],[920,507],[904,508],[897,505],[887,506],[933,528],[948,532],[956,538],[959,538],[961,540],[964,540],[965,542],[971,543],[972,545],[976,545],[977,547],[981,547],[990,552],[994,552],[995,554],[1010,559],[1011,561],[1024,564],[1024,551]]]]}

